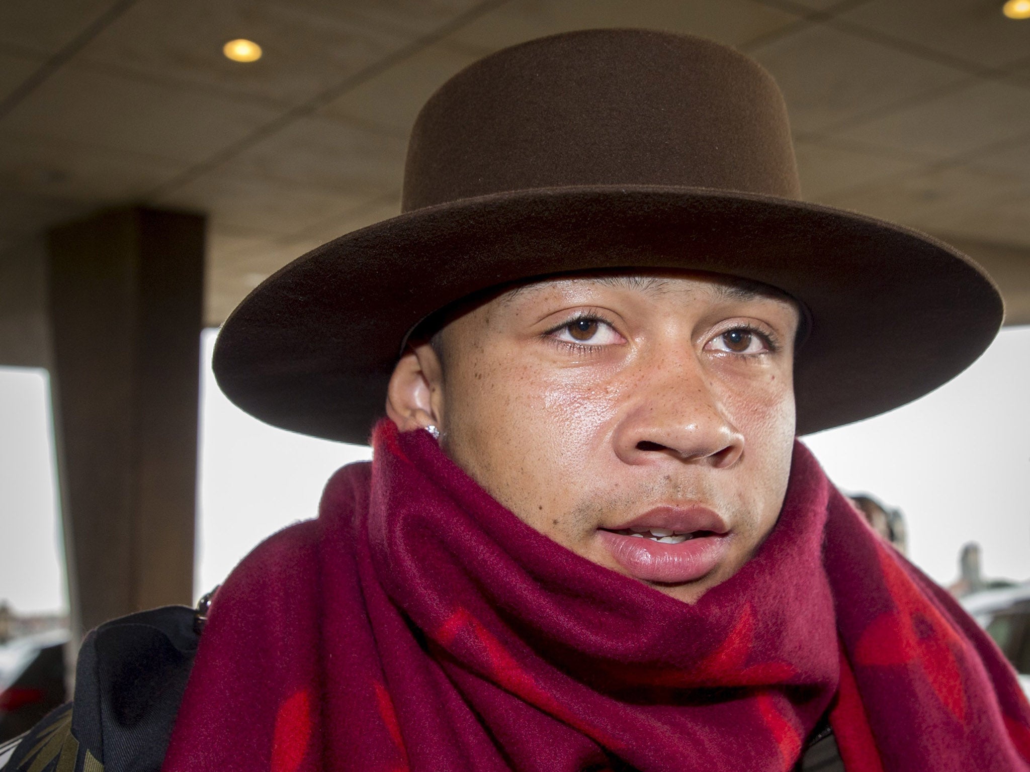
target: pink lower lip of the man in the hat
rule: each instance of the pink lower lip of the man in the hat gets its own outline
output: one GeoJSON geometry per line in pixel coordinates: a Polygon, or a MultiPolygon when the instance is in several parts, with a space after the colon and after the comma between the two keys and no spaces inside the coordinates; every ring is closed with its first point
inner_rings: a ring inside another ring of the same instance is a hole
{"type": "Polygon", "coordinates": [[[630,576],[668,585],[696,582],[719,565],[729,549],[725,534],[696,536],[678,545],[666,545],[612,531],[598,533],[612,557],[630,576]]]}

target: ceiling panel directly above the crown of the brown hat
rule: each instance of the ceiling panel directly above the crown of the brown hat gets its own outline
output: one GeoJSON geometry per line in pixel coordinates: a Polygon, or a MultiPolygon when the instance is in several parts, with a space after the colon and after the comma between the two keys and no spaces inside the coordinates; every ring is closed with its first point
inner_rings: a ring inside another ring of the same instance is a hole
{"type": "Polygon", "coordinates": [[[739,45],[797,19],[796,14],[752,0],[511,0],[449,39],[486,52],[571,30],[643,27],[739,45]]]}

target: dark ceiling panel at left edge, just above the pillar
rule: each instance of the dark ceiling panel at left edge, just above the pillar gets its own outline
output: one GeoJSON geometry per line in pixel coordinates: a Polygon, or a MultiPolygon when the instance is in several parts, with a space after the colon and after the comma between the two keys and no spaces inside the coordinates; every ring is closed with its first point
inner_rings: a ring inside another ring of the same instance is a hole
{"type": "Polygon", "coordinates": [[[0,184],[85,202],[138,199],[181,172],[181,162],[71,140],[0,131],[0,184]]]}

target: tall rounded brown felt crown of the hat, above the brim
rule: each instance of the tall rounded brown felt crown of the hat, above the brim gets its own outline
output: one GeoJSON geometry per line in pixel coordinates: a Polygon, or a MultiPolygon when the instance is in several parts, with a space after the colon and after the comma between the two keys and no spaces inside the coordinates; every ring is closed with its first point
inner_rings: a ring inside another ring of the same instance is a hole
{"type": "Polygon", "coordinates": [[[690,35],[588,30],[497,51],[422,108],[404,211],[579,185],[797,199],[783,96],[744,55],[690,35]]]}

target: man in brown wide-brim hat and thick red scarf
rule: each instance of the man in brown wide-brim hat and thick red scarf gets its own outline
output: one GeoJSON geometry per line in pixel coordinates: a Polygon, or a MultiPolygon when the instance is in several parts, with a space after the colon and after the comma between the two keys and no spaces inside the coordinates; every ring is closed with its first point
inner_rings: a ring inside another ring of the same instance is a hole
{"type": "Polygon", "coordinates": [[[360,442],[385,400],[374,461],[243,561],[196,656],[181,611],[100,628],[10,764],[1028,769],[1010,667],[794,441],[953,377],[1000,300],[797,195],[775,83],[715,43],[456,75],[405,213],[271,277],[215,353],[295,430],[360,442]]]}

